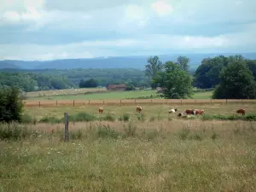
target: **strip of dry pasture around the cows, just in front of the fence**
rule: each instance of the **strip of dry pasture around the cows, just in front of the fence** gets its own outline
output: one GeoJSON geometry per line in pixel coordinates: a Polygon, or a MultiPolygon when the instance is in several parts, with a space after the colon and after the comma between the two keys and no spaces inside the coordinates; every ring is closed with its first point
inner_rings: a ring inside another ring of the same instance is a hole
{"type": "MultiPolygon", "coordinates": [[[[184,109],[187,108],[202,108],[205,110],[206,114],[223,114],[223,115],[232,115],[236,113],[236,110],[238,108],[245,108],[247,113],[256,113],[256,104],[248,104],[248,103],[242,103],[242,104],[214,104],[214,105],[199,105],[199,104],[142,104],[143,107],[143,114],[146,119],[150,119],[151,117],[155,117],[155,119],[168,119],[177,118],[176,114],[169,114],[168,111],[171,108],[177,108],[177,112],[183,112],[184,109]]],[[[136,113],[136,105],[75,105],[73,106],[55,106],[55,107],[41,107],[41,108],[26,108],[25,113],[30,114],[31,116],[35,116],[38,119],[41,119],[46,114],[49,116],[55,116],[55,117],[63,117],[63,113],[67,112],[69,114],[75,114],[79,112],[85,112],[85,113],[92,113],[92,114],[98,114],[98,108],[99,106],[102,106],[104,109],[103,115],[106,113],[112,113],[117,118],[119,115],[122,115],[123,113],[128,113],[131,116],[131,119],[137,119],[137,113],[136,113]]]]}

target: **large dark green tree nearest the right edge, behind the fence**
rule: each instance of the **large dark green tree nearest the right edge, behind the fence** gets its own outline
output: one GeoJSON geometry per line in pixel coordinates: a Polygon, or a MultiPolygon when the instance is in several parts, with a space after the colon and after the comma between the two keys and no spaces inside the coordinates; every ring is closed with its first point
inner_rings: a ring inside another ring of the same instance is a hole
{"type": "Polygon", "coordinates": [[[221,83],[213,92],[214,99],[255,99],[256,82],[252,71],[241,58],[230,61],[219,75],[221,83]]]}

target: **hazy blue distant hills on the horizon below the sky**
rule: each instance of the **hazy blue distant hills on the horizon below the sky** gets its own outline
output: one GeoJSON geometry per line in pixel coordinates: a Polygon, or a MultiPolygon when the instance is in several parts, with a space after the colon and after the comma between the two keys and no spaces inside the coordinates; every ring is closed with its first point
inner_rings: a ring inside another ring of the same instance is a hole
{"type": "MultiPolygon", "coordinates": [[[[256,53],[227,53],[227,54],[173,54],[159,55],[161,61],[176,61],[178,55],[187,56],[190,59],[191,69],[201,64],[201,60],[218,55],[242,55],[247,59],[256,59],[256,53]]],[[[149,55],[122,56],[93,59],[64,59],[54,61],[0,61],[0,68],[23,68],[23,69],[70,69],[70,68],[138,68],[143,69],[147,64],[149,55]]]]}

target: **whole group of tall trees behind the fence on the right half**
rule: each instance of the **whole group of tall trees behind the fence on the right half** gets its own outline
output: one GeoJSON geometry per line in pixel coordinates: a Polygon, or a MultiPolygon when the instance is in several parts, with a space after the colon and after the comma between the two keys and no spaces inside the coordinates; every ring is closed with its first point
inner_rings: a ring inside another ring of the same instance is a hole
{"type": "Polygon", "coordinates": [[[214,88],[214,99],[256,98],[256,60],[241,55],[203,59],[194,75],[189,74],[189,58],[178,56],[177,61],[163,63],[155,55],[148,58],[145,75],[153,89],[163,88],[162,96],[166,98],[189,98],[193,87],[214,88]]]}

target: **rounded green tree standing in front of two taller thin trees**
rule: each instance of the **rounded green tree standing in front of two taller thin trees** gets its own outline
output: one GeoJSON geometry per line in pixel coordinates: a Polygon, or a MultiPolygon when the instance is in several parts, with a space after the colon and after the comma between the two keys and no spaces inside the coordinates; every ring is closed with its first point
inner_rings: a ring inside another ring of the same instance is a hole
{"type": "Polygon", "coordinates": [[[164,89],[163,96],[166,98],[181,99],[192,96],[192,79],[189,73],[172,61],[166,62],[164,71],[157,74],[154,83],[160,84],[164,89]]]}

